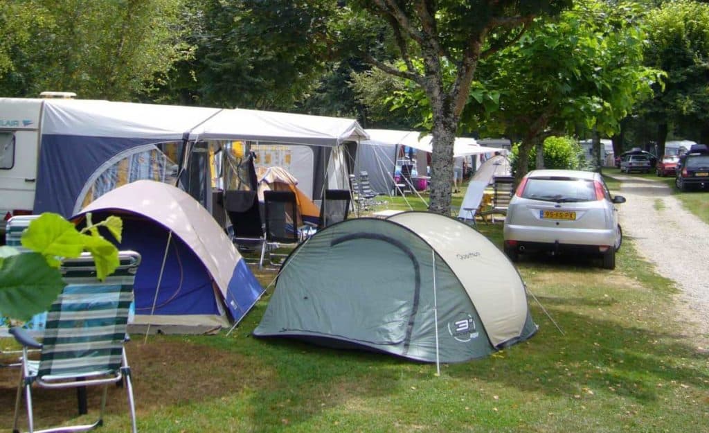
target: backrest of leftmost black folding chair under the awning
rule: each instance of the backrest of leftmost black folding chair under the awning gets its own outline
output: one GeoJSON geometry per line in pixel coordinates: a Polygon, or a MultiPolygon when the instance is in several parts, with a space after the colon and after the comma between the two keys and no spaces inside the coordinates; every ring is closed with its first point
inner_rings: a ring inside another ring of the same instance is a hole
{"type": "MultiPolygon", "coordinates": [[[[227,191],[224,209],[231,222],[231,240],[241,253],[262,248],[265,241],[261,207],[255,191],[227,191]]],[[[258,250],[256,250],[258,251],[258,250]]]]}

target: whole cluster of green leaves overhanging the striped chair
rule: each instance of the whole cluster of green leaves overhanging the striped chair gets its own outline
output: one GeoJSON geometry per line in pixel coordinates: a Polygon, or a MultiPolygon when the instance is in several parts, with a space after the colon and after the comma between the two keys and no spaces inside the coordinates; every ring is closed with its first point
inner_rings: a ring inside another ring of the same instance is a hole
{"type": "Polygon", "coordinates": [[[98,224],[86,216],[86,228],[77,231],[74,224],[58,214],[45,213],[34,219],[21,238],[30,250],[0,248],[0,312],[14,319],[27,320],[46,311],[57,299],[65,283],[59,267],[65,258],[79,257],[88,251],[96,263],[96,277],[103,280],[118,267],[118,249],[99,234],[105,227],[121,241],[123,221],[108,217],[98,224]]]}

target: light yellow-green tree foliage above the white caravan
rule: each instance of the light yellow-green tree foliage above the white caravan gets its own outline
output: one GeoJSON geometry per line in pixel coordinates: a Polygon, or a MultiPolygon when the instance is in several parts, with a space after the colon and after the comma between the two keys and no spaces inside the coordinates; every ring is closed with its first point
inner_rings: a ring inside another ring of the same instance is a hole
{"type": "Polygon", "coordinates": [[[182,4],[6,0],[0,36],[12,37],[0,42],[0,94],[38,97],[65,90],[83,98],[134,99],[189,53],[176,26],[182,4]]]}

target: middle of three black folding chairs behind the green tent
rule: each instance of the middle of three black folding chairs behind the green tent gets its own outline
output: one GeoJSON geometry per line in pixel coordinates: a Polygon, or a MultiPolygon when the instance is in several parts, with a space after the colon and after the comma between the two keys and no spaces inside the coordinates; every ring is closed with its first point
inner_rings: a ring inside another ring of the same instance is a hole
{"type": "Polygon", "coordinates": [[[274,258],[285,258],[285,254],[274,253],[281,246],[294,246],[300,240],[298,231],[298,204],[296,194],[291,191],[264,191],[264,242],[261,248],[259,268],[263,268],[268,254],[271,265],[279,265],[274,258]]]}

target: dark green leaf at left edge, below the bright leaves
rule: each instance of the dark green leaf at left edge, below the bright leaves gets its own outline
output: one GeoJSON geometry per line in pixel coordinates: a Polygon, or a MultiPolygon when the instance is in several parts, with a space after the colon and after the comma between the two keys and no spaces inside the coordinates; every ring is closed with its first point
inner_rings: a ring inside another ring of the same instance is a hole
{"type": "Polygon", "coordinates": [[[28,320],[49,309],[65,283],[40,253],[10,256],[0,264],[0,312],[28,320]]]}

